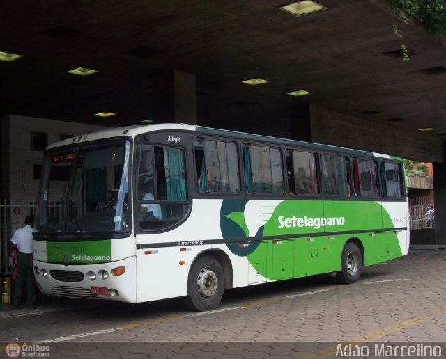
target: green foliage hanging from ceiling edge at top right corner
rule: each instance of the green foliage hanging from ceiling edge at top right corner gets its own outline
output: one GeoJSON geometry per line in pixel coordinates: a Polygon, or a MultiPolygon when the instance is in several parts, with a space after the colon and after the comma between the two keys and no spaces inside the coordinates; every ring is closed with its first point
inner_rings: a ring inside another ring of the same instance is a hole
{"type": "MultiPolygon", "coordinates": [[[[398,38],[403,38],[398,24],[409,24],[409,17],[419,22],[433,37],[443,38],[446,34],[446,0],[387,0],[392,6],[393,30],[398,38]]],[[[408,49],[401,44],[403,60],[408,61],[408,49]]]]}

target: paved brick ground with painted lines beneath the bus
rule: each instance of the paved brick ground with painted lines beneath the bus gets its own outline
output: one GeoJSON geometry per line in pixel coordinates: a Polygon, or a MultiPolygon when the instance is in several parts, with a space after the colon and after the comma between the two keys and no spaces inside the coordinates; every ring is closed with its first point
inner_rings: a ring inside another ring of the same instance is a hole
{"type": "Polygon", "coordinates": [[[445,248],[413,247],[364,268],[354,285],[317,276],[233,289],[204,313],[188,312],[179,299],[3,305],[0,338],[26,342],[40,358],[328,358],[348,356],[355,345],[362,357],[408,350],[429,357],[446,349],[445,274],[445,248]]]}

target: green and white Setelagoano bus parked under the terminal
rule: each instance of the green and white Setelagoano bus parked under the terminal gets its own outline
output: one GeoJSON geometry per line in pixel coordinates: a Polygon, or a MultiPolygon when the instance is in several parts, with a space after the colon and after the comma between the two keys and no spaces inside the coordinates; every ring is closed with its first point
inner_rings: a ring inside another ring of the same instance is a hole
{"type": "Polygon", "coordinates": [[[401,159],[197,125],[49,145],[33,234],[44,294],[128,303],[335,273],[408,253],[401,159]]]}

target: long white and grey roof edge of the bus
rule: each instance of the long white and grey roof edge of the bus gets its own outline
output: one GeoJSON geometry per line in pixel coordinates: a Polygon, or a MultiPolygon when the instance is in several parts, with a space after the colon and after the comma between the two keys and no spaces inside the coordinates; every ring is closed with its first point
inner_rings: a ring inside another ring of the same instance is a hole
{"type": "Polygon", "coordinates": [[[144,134],[146,132],[158,132],[158,131],[192,131],[197,134],[203,135],[213,135],[213,136],[225,136],[230,138],[244,139],[247,141],[268,141],[270,143],[275,143],[277,145],[293,145],[304,147],[313,150],[321,151],[339,151],[348,154],[355,154],[357,156],[372,156],[381,157],[386,159],[400,159],[399,157],[390,156],[388,154],[381,154],[377,152],[364,151],[364,150],[354,150],[348,147],[339,147],[332,145],[323,145],[320,143],[310,143],[305,141],[296,141],[287,138],[278,138],[272,136],[264,136],[259,134],[249,134],[247,132],[231,131],[227,129],[214,129],[211,127],[203,127],[199,125],[189,125],[184,123],[163,123],[154,125],[134,125],[126,127],[116,127],[110,129],[103,129],[101,131],[95,131],[91,133],[81,134],[79,136],[74,136],[72,138],[67,138],[65,140],[52,143],[47,147],[47,150],[54,149],[56,147],[62,147],[66,145],[72,145],[73,143],[84,143],[90,141],[97,141],[105,138],[113,137],[123,137],[130,136],[134,137],[139,134],[144,134]]]}

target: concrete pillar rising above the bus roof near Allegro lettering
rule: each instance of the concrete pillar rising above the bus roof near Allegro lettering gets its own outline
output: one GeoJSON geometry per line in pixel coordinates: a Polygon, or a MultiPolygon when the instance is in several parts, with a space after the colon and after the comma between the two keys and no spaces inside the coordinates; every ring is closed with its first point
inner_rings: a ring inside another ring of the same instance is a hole
{"type": "Polygon", "coordinates": [[[195,75],[174,71],[153,79],[153,122],[197,124],[195,75]]]}

